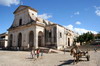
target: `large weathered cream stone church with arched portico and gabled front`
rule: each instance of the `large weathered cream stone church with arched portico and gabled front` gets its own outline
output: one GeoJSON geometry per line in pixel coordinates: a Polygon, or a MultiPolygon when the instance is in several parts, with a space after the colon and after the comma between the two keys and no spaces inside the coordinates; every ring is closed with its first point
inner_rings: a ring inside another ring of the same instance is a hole
{"type": "Polygon", "coordinates": [[[14,20],[8,29],[8,47],[11,49],[62,49],[72,46],[77,36],[59,24],[38,17],[38,11],[29,6],[20,5],[13,14],[14,20]]]}

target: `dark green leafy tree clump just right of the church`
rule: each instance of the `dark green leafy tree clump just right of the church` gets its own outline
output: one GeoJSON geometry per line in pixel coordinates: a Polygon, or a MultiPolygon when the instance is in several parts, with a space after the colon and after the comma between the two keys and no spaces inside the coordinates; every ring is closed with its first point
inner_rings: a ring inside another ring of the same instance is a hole
{"type": "Polygon", "coordinates": [[[93,40],[94,34],[92,34],[91,32],[83,33],[82,35],[77,37],[77,42],[80,42],[81,45],[82,43],[90,43],[93,40]]]}

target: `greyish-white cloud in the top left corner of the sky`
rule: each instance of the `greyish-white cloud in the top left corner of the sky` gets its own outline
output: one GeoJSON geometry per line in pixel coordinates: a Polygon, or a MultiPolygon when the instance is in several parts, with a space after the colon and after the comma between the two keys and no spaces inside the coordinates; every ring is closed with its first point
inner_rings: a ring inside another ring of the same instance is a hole
{"type": "Polygon", "coordinates": [[[18,5],[20,0],[0,0],[0,5],[4,6],[11,6],[11,5],[18,5]]]}

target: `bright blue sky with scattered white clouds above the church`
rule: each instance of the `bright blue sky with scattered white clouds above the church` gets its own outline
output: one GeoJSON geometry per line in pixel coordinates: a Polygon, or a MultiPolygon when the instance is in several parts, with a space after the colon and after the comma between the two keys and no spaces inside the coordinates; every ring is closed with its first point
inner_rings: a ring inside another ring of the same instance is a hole
{"type": "Polygon", "coordinates": [[[38,17],[79,34],[100,32],[100,0],[0,0],[0,33],[7,32],[20,5],[30,6],[38,10],[38,17]]]}

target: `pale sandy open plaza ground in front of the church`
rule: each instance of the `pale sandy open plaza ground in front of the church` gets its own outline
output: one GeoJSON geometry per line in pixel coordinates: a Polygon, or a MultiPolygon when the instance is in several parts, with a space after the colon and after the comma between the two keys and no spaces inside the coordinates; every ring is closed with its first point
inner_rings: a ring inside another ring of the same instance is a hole
{"type": "Polygon", "coordinates": [[[0,50],[0,66],[99,66],[100,51],[89,51],[89,54],[90,61],[82,58],[79,63],[73,65],[73,57],[69,52],[44,53],[42,58],[34,60],[27,51],[0,50]]]}

